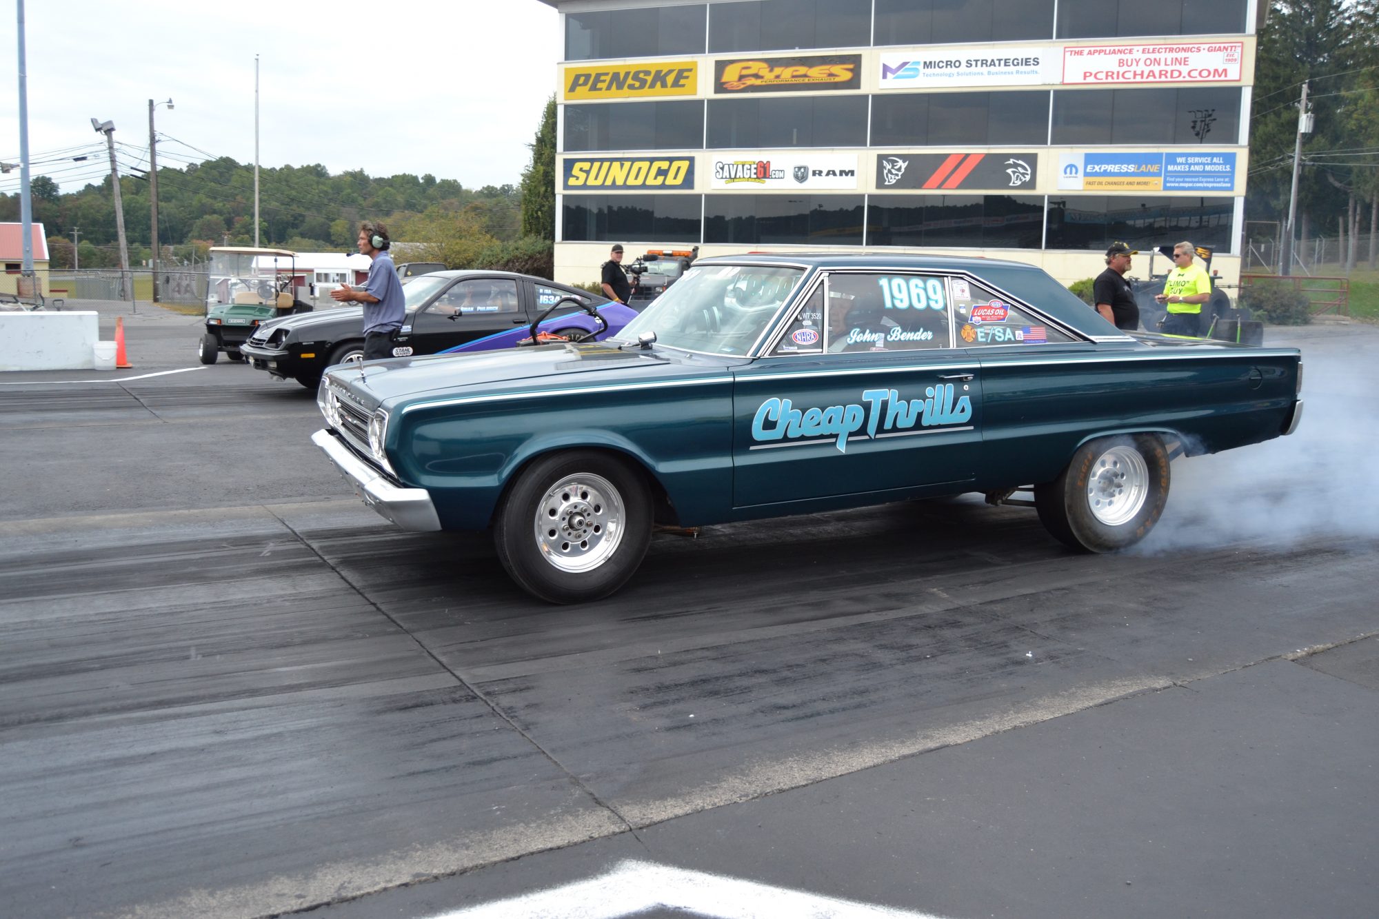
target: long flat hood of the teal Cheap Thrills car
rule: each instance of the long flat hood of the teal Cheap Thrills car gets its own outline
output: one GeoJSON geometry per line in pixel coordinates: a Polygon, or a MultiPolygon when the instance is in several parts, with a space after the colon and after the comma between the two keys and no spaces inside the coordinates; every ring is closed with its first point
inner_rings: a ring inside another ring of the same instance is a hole
{"type": "Polygon", "coordinates": [[[439,393],[513,392],[527,386],[564,388],[592,374],[600,379],[622,377],[644,379],[648,370],[663,373],[667,378],[729,373],[728,362],[696,364],[672,362],[665,355],[651,350],[621,350],[603,344],[561,344],[469,355],[393,357],[357,368],[336,368],[330,377],[372,407],[390,400],[410,402],[414,396],[432,397],[439,393]]]}

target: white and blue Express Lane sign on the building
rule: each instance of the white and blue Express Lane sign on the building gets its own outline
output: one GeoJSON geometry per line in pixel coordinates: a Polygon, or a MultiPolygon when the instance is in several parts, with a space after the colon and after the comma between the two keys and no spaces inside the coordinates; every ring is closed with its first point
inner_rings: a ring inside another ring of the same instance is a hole
{"type": "Polygon", "coordinates": [[[1058,188],[1071,192],[1234,192],[1236,155],[1059,153],[1058,188]]]}

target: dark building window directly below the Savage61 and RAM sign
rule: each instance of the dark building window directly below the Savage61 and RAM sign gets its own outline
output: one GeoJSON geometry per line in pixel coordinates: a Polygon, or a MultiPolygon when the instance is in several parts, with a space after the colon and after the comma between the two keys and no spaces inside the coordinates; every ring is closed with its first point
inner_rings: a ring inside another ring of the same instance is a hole
{"type": "Polygon", "coordinates": [[[706,195],[705,243],[860,246],[860,195],[706,195]]]}

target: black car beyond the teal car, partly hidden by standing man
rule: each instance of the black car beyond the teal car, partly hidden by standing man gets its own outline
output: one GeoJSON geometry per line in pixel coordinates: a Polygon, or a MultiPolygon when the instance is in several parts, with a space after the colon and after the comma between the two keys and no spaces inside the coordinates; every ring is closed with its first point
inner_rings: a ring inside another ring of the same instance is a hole
{"type": "MultiPolygon", "coordinates": [[[[407,280],[403,294],[407,316],[393,339],[394,357],[467,345],[476,350],[510,346],[542,310],[563,298],[600,308],[601,315],[607,315],[610,304],[605,297],[545,277],[487,270],[419,275],[407,280]]],[[[614,316],[608,320],[612,331],[626,323],[614,316]]],[[[542,324],[542,331],[568,338],[592,337],[596,330],[603,331],[575,304],[563,305],[542,324]]],[[[327,367],[363,359],[364,309],[342,306],[274,319],[259,326],[240,353],[258,370],[314,389],[327,367]]]]}

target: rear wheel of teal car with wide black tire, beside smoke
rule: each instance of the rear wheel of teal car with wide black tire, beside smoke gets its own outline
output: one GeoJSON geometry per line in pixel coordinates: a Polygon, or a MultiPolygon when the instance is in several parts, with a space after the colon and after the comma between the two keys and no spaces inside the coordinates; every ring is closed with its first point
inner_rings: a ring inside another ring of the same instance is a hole
{"type": "Polygon", "coordinates": [[[1157,435],[1100,437],[1034,488],[1038,517],[1060,542],[1113,552],[1149,535],[1168,502],[1168,451],[1157,435]]]}

